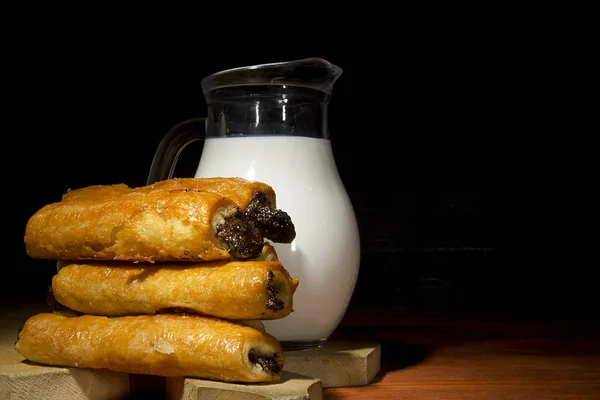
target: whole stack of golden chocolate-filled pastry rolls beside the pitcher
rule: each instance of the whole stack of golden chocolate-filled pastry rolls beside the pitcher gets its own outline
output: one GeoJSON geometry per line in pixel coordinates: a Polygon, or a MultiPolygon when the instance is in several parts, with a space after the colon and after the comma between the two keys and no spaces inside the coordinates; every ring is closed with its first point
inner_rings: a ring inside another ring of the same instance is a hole
{"type": "Polygon", "coordinates": [[[292,312],[298,279],[269,241],[295,235],[261,182],[70,190],[27,223],[27,254],[58,262],[55,309],[28,319],[15,348],[48,365],[276,381],[283,352],[260,321],[292,312]]]}

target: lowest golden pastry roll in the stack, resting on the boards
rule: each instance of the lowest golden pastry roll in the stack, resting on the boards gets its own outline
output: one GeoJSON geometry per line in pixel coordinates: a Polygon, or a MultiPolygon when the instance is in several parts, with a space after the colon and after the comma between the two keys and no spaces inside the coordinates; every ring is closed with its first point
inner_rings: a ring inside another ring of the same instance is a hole
{"type": "Polygon", "coordinates": [[[37,314],[19,331],[15,349],[38,364],[227,382],[276,381],[284,362],[268,333],[188,314],[37,314]]]}

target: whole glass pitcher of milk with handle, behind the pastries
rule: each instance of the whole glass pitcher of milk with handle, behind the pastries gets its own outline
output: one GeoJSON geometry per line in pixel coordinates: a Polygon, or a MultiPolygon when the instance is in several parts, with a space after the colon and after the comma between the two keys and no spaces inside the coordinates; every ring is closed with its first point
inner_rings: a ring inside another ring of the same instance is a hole
{"type": "Polygon", "coordinates": [[[241,177],[273,187],[277,208],[296,227],[274,244],[299,278],[294,311],[263,321],[284,350],[323,345],[350,302],[360,240],[352,204],[333,158],[327,123],[342,69],[319,58],[229,69],[202,80],[206,118],[173,127],[162,139],[148,184],[172,178],[181,151],[203,140],[195,177],[241,177]]]}

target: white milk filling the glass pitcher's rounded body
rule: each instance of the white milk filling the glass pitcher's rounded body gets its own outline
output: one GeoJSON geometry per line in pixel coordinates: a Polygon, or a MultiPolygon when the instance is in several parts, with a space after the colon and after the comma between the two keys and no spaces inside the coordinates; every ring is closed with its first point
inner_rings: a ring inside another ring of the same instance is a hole
{"type": "Polygon", "coordinates": [[[354,210],[325,139],[237,137],[206,139],[196,177],[265,182],[277,208],[296,227],[291,244],[275,244],[280,261],[300,279],[294,312],[265,321],[280,341],[320,341],[337,327],[354,291],[360,243],[354,210]]]}

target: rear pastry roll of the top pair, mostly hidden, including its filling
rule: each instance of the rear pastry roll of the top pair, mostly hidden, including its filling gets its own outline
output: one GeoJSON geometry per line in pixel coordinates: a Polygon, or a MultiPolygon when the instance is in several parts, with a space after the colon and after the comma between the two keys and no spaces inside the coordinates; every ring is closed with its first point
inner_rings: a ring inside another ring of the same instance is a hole
{"type": "Polygon", "coordinates": [[[243,178],[171,178],[137,188],[130,188],[123,183],[93,185],[69,190],[63,194],[62,201],[99,200],[157,189],[202,190],[219,194],[236,203],[242,212],[252,217],[265,238],[277,243],[290,243],[296,237],[290,216],[276,208],[273,188],[266,183],[243,178]]]}

